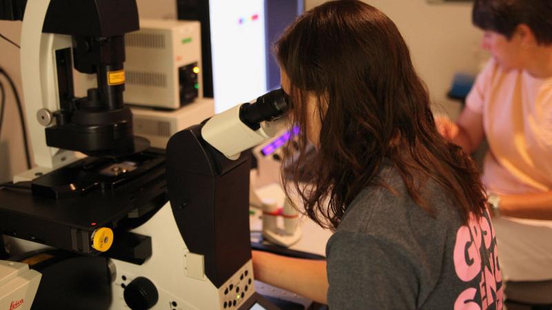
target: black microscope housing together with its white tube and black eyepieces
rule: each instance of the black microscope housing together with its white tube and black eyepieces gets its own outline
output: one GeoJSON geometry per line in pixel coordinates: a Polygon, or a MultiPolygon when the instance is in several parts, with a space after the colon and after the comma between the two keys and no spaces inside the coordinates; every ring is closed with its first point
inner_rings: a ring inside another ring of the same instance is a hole
{"type": "Polygon", "coordinates": [[[177,132],[168,142],[172,214],[188,250],[204,258],[204,273],[215,287],[251,259],[251,165],[250,156],[240,152],[268,138],[272,127],[266,123],[277,123],[286,110],[284,92],[275,90],[177,132]]]}

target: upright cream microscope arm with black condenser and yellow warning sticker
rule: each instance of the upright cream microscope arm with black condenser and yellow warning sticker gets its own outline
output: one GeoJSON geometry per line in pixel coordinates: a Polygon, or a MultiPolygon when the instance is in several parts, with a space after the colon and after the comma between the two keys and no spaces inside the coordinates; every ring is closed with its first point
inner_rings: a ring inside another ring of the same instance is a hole
{"type": "Polygon", "coordinates": [[[12,6],[0,15],[23,18],[21,79],[35,165],[50,170],[67,165],[75,157],[64,150],[132,149],[124,78],[115,83],[110,77],[124,76],[123,36],[139,29],[135,0],[6,1],[12,6]],[[73,64],[79,72],[98,75],[98,87],[87,98],[75,98],[73,64]]]}

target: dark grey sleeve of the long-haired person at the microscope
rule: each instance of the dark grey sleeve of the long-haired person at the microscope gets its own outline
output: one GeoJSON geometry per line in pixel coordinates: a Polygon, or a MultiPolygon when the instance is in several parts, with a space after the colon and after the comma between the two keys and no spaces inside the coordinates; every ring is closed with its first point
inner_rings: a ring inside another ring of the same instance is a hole
{"type": "Polygon", "coordinates": [[[419,281],[396,245],[338,231],[326,254],[330,309],[416,309],[419,281]]]}

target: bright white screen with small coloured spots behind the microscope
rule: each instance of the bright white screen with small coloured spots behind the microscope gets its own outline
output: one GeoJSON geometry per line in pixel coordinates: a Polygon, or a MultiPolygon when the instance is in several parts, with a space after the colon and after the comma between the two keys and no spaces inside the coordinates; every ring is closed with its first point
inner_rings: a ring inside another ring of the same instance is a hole
{"type": "Polygon", "coordinates": [[[215,112],[266,92],[263,0],[210,0],[215,112]]]}

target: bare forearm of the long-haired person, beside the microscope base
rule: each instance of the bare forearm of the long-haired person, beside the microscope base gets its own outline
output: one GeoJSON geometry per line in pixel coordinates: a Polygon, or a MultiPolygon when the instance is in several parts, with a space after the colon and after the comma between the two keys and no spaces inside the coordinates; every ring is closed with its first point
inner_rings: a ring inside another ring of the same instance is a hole
{"type": "Polygon", "coordinates": [[[255,279],[326,304],[328,277],[325,260],[289,258],[252,251],[255,279]]]}

